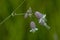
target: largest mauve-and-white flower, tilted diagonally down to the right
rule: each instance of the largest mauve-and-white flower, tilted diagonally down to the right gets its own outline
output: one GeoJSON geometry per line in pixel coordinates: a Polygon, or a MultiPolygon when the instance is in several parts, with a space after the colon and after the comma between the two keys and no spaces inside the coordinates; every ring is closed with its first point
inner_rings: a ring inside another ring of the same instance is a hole
{"type": "Polygon", "coordinates": [[[45,26],[47,29],[50,29],[50,27],[46,23],[46,14],[41,14],[40,12],[36,11],[35,16],[38,18],[39,23],[43,26],[45,26]]]}

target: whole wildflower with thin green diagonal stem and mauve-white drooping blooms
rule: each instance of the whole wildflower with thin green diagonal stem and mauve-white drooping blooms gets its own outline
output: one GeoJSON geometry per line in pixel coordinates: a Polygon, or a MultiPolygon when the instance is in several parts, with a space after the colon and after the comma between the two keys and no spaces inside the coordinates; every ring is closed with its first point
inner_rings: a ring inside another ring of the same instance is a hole
{"type": "MultiPolygon", "coordinates": [[[[24,0],[24,1],[25,1],[25,0],[24,0]]],[[[6,20],[8,20],[11,16],[13,17],[13,16],[16,16],[16,15],[24,15],[24,18],[25,18],[25,19],[28,18],[28,17],[32,17],[32,16],[33,16],[33,13],[32,13],[31,7],[29,7],[29,9],[26,11],[26,13],[22,13],[22,14],[17,14],[17,13],[15,13],[15,11],[16,11],[19,7],[21,7],[21,5],[24,3],[24,1],[11,13],[11,15],[9,15],[6,19],[4,19],[4,20],[0,23],[0,25],[3,24],[6,20]]],[[[47,23],[45,22],[45,21],[47,21],[47,19],[45,18],[45,17],[46,17],[46,14],[42,14],[42,13],[36,11],[36,12],[34,13],[34,15],[37,17],[37,19],[38,19],[38,21],[39,21],[38,23],[40,23],[42,26],[45,26],[47,29],[50,29],[50,27],[49,27],[49,26],[47,25],[47,23]]],[[[29,32],[36,32],[36,31],[38,30],[38,28],[37,28],[37,26],[36,26],[36,24],[35,24],[34,21],[31,21],[31,22],[30,22],[30,28],[31,28],[31,30],[30,30],[29,32]]]]}

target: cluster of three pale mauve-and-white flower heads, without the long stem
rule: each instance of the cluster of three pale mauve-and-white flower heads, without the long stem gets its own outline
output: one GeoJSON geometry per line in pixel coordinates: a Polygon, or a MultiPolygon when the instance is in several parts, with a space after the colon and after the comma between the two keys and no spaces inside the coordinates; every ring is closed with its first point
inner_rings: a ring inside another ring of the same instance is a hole
{"type": "MultiPolygon", "coordinates": [[[[31,17],[32,15],[32,10],[31,10],[31,7],[27,10],[27,12],[25,13],[24,15],[24,18],[27,18],[28,16],[31,17]]],[[[34,15],[36,16],[36,18],[38,19],[38,23],[40,23],[42,26],[45,26],[47,29],[50,29],[50,27],[47,25],[46,21],[46,14],[42,14],[38,11],[36,11],[34,13],[34,15]]],[[[31,27],[31,30],[30,32],[35,32],[38,30],[38,28],[36,28],[36,24],[34,21],[31,21],[30,22],[30,27],[31,27]]]]}

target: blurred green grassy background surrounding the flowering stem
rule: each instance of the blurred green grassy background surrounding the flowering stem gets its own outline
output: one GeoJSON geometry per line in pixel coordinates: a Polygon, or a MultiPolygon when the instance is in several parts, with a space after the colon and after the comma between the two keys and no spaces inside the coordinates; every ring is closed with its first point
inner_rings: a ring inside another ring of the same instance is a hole
{"type": "MultiPolygon", "coordinates": [[[[0,22],[8,17],[24,0],[0,0],[0,22]]],[[[0,25],[0,40],[60,40],[60,0],[25,0],[14,11],[17,14],[25,13],[31,7],[33,13],[39,11],[47,14],[47,23],[51,27],[47,30],[38,24],[37,18],[24,19],[24,15],[10,17],[0,25]],[[30,21],[34,21],[38,31],[30,33],[30,21]]]]}

